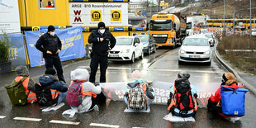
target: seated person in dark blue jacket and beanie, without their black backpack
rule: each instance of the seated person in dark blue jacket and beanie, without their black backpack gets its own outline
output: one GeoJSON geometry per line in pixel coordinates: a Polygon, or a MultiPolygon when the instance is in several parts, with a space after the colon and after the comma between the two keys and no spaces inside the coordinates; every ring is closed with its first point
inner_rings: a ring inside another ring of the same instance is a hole
{"type": "Polygon", "coordinates": [[[59,105],[67,95],[68,87],[64,81],[59,81],[55,69],[46,69],[45,75],[39,78],[39,84],[42,87],[50,86],[53,105],[59,105]]]}

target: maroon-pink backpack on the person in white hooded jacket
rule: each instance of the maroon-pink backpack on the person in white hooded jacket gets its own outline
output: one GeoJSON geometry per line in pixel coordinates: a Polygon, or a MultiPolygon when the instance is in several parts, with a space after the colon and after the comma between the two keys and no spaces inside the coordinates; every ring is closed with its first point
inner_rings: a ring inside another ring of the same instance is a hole
{"type": "Polygon", "coordinates": [[[78,107],[82,103],[82,85],[83,82],[73,82],[67,92],[67,102],[70,107],[78,107]]]}

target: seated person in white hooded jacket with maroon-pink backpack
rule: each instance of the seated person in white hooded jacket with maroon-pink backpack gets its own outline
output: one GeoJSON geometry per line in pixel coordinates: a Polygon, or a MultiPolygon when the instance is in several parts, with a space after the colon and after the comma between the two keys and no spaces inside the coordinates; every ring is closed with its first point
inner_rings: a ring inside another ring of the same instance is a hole
{"type": "Polygon", "coordinates": [[[73,117],[75,113],[98,110],[96,97],[102,92],[102,88],[88,82],[88,70],[75,69],[70,75],[72,82],[67,93],[67,102],[71,110],[64,111],[63,115],[69,114],[69,117],[73,117]]]}

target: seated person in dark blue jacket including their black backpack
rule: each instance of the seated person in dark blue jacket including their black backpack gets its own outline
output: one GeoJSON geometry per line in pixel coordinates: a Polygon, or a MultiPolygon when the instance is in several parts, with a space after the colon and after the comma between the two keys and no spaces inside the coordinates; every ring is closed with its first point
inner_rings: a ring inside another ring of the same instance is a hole
{"type": "Polygon", "coordinates": [[[45,75],[39,78],[39,84],[36,84],[36,97],[40,106],[59,105],[66,97],[68,88],[56,75],[55,69],[46,69],[45,75]]]}

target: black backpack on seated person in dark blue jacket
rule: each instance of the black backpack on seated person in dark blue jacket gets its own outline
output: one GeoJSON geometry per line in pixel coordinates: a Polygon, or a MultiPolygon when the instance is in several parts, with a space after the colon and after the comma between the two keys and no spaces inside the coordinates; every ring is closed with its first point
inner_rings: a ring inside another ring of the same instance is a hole
{"type": "Polygon", "coordinates": [[[50,86],[42,87],[38,83],[36,83],[36,99],[40,107],[50,107],[56,103],[52,98],[50,86]]]}

